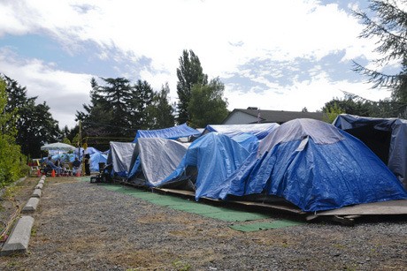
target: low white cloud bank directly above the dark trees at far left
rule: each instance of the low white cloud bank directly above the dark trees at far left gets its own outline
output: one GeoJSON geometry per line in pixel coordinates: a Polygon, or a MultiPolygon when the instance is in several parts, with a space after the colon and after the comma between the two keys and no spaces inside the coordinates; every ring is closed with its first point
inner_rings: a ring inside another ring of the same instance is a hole
{"type": "Polygon", "coordinates": [[[37,103],[47,102],[60,128],[72,128],[76,110],[89,102],[91,75],[60,71],[38,59],[14,59],[8,53],[0,50],[0,72],[27,87],[28,97],[38,96],[37,103]]]}

